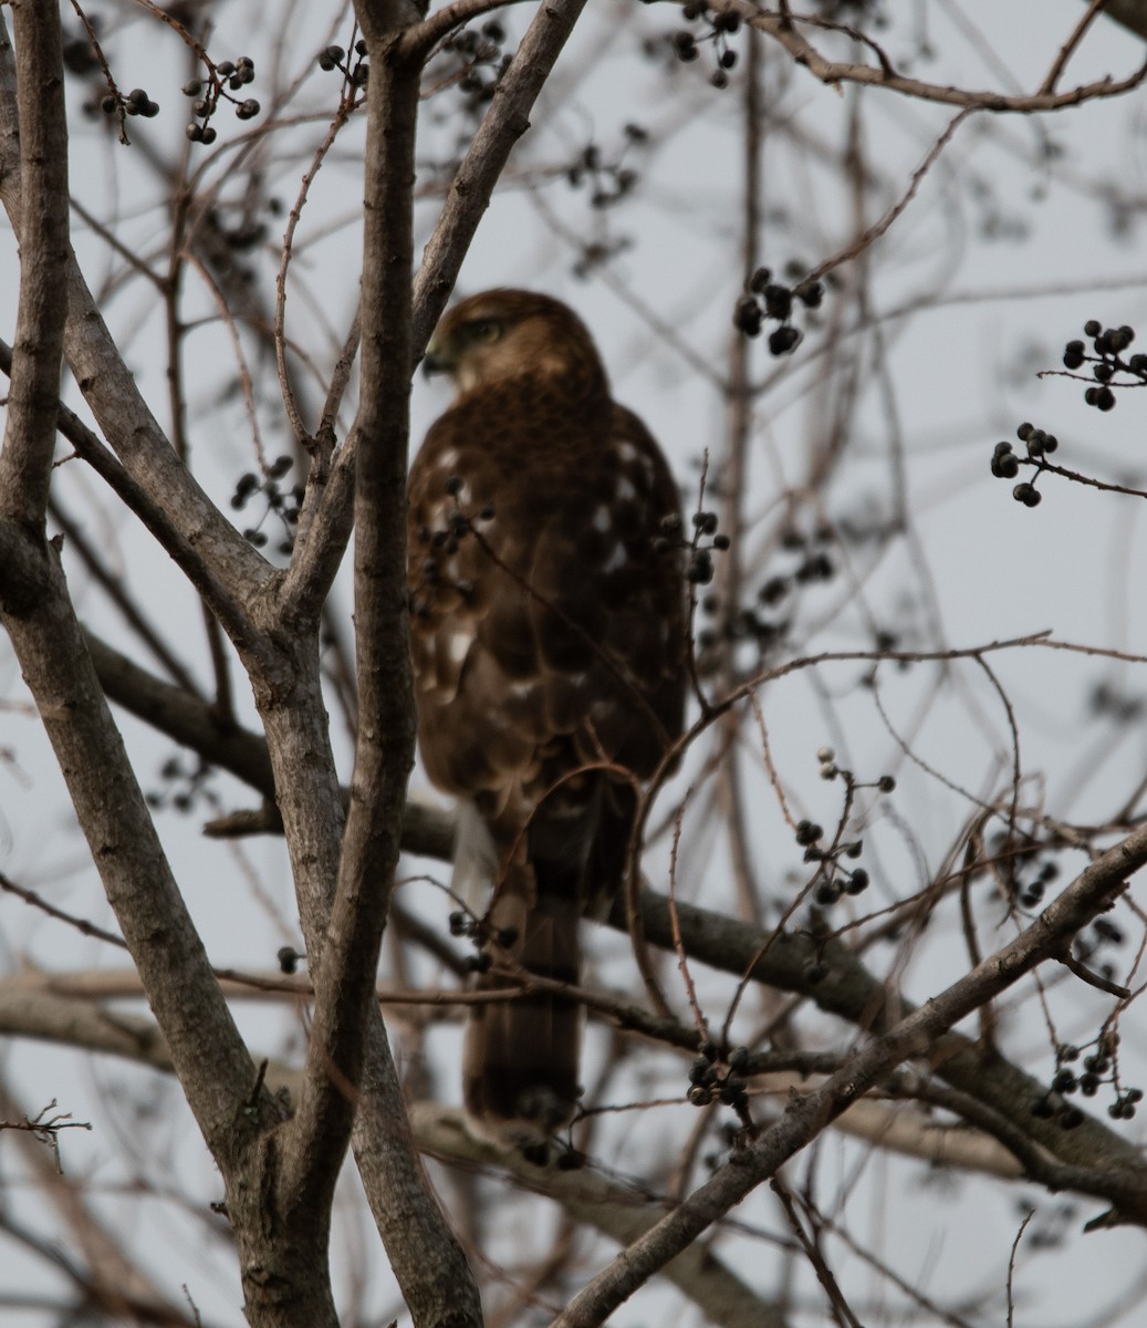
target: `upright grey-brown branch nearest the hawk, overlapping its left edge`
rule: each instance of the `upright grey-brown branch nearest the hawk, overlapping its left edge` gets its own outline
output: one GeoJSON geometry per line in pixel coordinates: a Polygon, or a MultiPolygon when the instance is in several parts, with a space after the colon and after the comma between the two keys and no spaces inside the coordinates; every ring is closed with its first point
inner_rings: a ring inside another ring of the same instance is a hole
{"type": "Polygon", "coordinates": [[[420,69],[396,58],[394,45],[390,37],[372,52],[368,86],[362,385],[353,429],[358,740],[337,887],[312,960],[316,1000],[295,1122],[301,1146],[284,1177],[300,1203],[329,1203],[350,1138],[414,760],[405,515],[420,69]]]}

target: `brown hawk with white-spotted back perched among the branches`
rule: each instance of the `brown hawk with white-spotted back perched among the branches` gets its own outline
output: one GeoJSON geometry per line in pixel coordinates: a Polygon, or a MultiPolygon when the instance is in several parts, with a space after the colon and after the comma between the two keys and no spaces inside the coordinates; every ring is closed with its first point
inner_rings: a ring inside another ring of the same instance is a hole
{"type": "MultiPolygon", "coordinates": [[[[455,880],[493,886],[498,967],[479,988],[576,981],[579,918],[623,879],[635,781],[681,732],[684,575],[664,534],[677,490],[556,300],[463,300],[426,368],[458,396],[410,471],[422,760],[461,802],[455,880]]],[[[574,1113],[579,1046],[560,995],[473,1005],[463,1089],[479,1130],[548,1138],[574,1113]]]]}

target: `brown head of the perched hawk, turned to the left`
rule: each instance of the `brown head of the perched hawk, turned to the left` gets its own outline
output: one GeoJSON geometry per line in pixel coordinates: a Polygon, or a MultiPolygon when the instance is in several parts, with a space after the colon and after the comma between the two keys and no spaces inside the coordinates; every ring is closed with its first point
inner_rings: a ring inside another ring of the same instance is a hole
{"type": "Polygon", "coordinates": [[[497,290],[455,304],[438,324],[423,372],[443,371],[459,397],[514,378],[544,378],[577,394],[605,385],[605,371],[577,315],[548,295],[497,290]]]}

